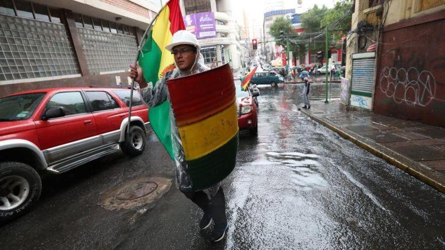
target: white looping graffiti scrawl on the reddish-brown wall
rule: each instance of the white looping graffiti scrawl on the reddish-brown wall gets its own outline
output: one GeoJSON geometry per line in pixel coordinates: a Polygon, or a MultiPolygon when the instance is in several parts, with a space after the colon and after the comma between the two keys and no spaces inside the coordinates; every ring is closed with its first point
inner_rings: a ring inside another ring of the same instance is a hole
{"type": "Polygon", "coordinates": [[[426,70],[384,67],[380,72],[380,90],[397,104],[425,107],[435,97],[436,80],[426,70]]]}

